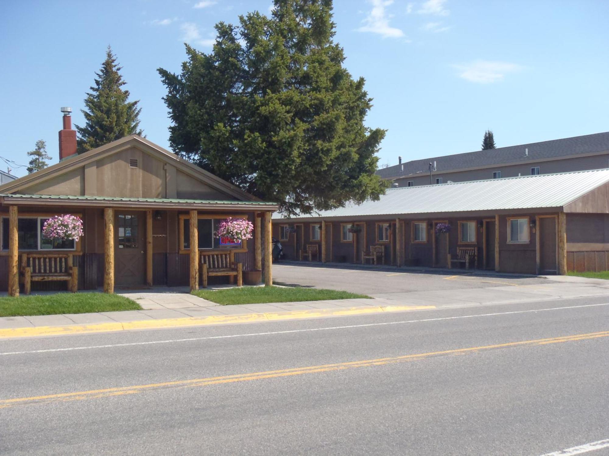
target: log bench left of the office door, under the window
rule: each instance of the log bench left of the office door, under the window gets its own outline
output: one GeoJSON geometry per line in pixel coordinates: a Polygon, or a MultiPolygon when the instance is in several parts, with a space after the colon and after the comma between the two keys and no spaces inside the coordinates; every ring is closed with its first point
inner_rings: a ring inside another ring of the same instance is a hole
{"type": "Polygon", "coordinates": [[[78,267],[74,266],[72,254],[21,254],[23,292],[30,294],[32,282],[65,280],[68,291],[78,289],[78,267]]]}

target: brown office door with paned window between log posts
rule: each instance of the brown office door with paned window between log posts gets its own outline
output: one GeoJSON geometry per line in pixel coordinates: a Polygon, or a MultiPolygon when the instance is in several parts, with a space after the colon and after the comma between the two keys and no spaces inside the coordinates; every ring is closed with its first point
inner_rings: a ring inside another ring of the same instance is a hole
{"type": "Polygon", "coordinates": [[[114,221],[114,281],[117,286],[146,283],[146,213],[117,212],[114,221]]]}

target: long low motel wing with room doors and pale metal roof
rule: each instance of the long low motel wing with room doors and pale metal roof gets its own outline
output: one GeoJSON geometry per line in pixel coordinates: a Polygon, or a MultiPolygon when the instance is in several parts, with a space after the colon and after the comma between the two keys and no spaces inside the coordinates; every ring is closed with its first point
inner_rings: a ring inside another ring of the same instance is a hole
{"type": "Polygon", "coordinates": [[[286,259],[526,274],[609,269],[609,169],[389,188],[273,215],[286,259]]]}

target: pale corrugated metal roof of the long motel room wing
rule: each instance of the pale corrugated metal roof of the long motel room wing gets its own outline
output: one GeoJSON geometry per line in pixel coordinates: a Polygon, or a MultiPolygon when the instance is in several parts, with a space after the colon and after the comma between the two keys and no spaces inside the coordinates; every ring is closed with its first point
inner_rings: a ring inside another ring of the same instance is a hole
{"type": "Polygon", "coordinates": [[[379,201],[303,218],[561,207],[606,182],[609,169],[389,188],[379,201]]]}

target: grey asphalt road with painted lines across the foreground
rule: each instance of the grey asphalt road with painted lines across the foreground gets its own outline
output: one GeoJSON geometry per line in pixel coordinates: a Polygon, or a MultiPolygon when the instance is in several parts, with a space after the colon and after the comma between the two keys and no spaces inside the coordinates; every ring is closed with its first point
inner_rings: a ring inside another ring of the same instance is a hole
{"type": "Polygon", "coordinates": [[[609,438],[608,353],[607,297],[2,340],[0,453],[539,456],[609,438]]]}

